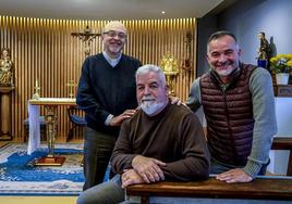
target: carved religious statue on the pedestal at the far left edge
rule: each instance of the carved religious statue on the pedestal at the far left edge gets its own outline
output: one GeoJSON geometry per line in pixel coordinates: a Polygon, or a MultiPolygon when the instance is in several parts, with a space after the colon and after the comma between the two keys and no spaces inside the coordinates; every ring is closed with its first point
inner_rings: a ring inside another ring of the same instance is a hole
{"type": "Polygon", "coordinates": [[[14,86],[13,62],[10,59],[10,50],[8,48],[3,48],[1,50],[0,86],[1,87],[13,87],[14,86]]]}

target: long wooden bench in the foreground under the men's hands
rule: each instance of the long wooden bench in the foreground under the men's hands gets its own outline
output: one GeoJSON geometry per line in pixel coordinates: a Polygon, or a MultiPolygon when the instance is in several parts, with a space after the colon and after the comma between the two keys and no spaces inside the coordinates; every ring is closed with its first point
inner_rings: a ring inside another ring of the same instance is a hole
{"type": "Polygon", "coordinates": [[[126,188],[126,196],[139,196],[142,204],[149,197],[205,197],[233,200],[272,200],[292,203],[292,177],[261,177],[247,183],[226,183],[215,178],[194,182],[157,182],[126,188]],[[290,202],[288,202],[290,201],[290,202]]]}

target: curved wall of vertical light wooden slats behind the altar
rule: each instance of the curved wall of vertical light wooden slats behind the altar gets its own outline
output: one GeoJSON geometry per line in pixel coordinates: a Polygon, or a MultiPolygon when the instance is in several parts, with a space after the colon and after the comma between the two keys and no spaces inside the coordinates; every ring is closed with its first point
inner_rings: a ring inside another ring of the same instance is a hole
{"type": "MultiPolygon", "coordinates": [[[[12,135],[23,141],[27,117],[27,100],[34,93],[35,80],[40,84],[41,97],[69,97],[66,84],[76,84],[85,59],[85,43],[71,33],[84,31],[88,25],[93,33],[101,33],[108,21],[71,21],[0,16],[0,48],[9,48],[15,66],[15,91],[12,93],[12,135]]],[[[195,77],[196,21],[195,18],[122,21],[129,29],[124,53],[143,64],[159,65],[170,52],[180,64],[175,93],[184,101],[195,77]],[[186,34],[192,35],[191,53],[186,49],[186,34]],[[190,69],[182,68],[186,58],[190,69]]],[[[102,51],[97,37],[90,43],[90,53],[102,51]]],[[[40,110],[44,114],[44,109],[40,110]]],[[[70,122],[64,107],[58,110],[58,140],[65,141],[70,122]]],[[[76,138],[82,138],[81,130],[76,138]]]]}

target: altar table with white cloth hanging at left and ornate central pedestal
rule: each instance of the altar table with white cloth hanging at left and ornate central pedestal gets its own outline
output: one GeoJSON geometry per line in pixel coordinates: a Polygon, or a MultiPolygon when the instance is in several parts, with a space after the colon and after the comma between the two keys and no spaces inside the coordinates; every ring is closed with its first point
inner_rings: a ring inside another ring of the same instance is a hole
{"type": "Polygon", "coordinates": [[[28,120],[29,120],[29,138],[28,138],[28,154],[32,153],[35,149],[39,148],[39,124],[37,124],[39,118],[39,106],[45,106],[45,120],[46,120],[46,135],[48,141],[48,155],[41,157],[35,162],[37,166],[61,166],[65,157],[56,156],[53,154],[54,149],[54,138],[56,138],[56,123],[57,123],[57,109],[61,105],[76,105],[76,100],[73,98],[39,98],[32,99],[28,101],[28,120]],[[32,111],[34,109],[34,111],[32,111]],[[33,113],[34,112],[34,113],[33,113]],[[34,124],[34,122],[36,124],[34,124]],[[37,128],[34,128],[37,127],[37,128]],[[36,140],[36,141],[34,141],[36,140]],[[33,145],[32,144],[36,144],[33,145]]]}

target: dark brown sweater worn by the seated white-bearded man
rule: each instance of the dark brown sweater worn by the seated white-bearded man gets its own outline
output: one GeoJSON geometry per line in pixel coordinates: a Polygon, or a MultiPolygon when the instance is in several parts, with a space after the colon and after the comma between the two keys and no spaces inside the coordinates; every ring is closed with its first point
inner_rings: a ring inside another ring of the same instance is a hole
{"type": "Polygon", "coordinates": [[[136,155],[167,163],[166,180],[196,180],[208,177],[209,152],[200,123],[181,105],[168,106],[149,117],[138,111],[122,124],[112,153],[112,169],[122,174],[132,168],[136,155]]]}

